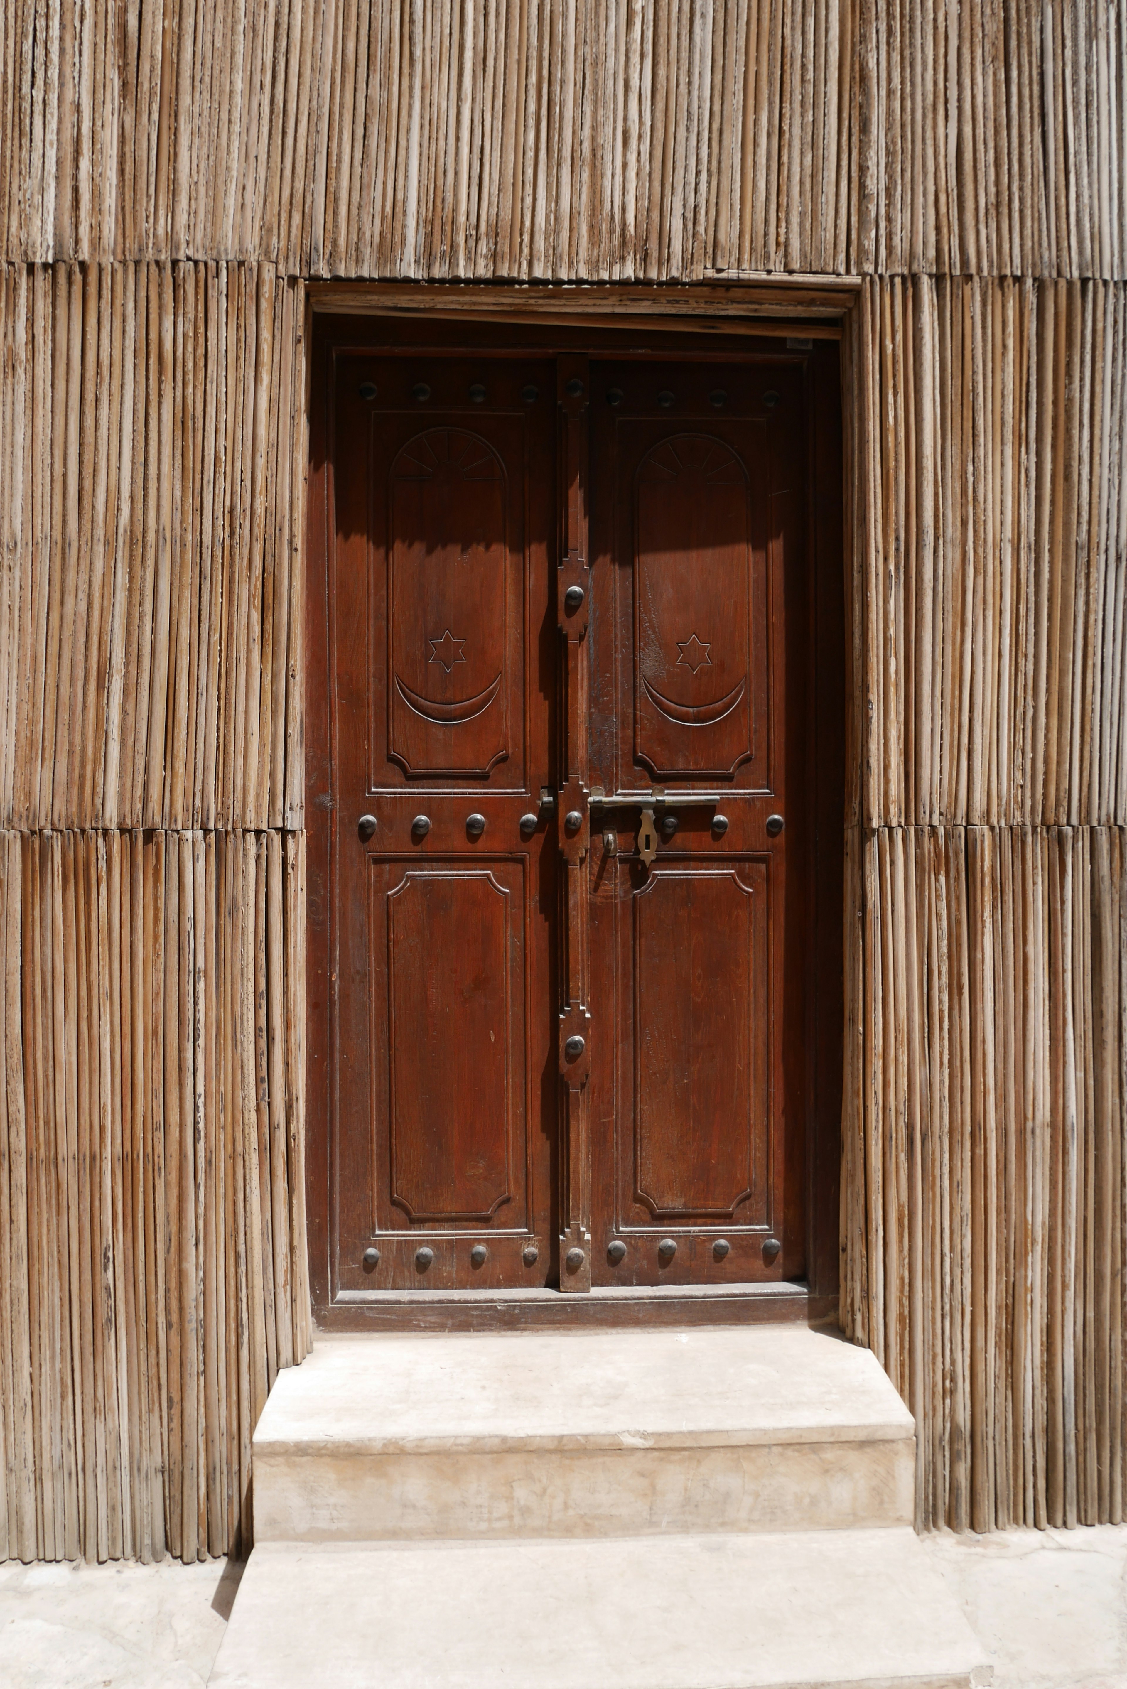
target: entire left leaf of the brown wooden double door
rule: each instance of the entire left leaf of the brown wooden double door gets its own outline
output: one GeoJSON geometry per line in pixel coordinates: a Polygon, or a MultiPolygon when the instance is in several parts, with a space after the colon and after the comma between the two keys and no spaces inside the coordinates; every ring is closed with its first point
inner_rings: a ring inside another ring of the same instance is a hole
{"type": "Polygon", "coordinates": [[[336,353],[336,1301],[554,1270],[554,382],[336,353]]]}

